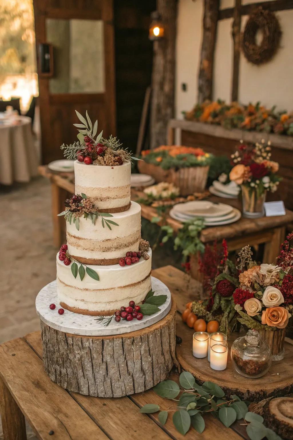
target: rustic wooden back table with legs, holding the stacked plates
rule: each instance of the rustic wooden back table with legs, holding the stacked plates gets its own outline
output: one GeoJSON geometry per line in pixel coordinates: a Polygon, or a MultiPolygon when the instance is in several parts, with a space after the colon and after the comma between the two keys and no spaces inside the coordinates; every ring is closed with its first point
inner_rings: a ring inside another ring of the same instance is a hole
{"type": "MultiPolygon", "coordinates": [[[[54,244],[56,247],[61,246],[62,235],[64,234],[64,219],[58,217],[57,214],[64,209],[63,202],[67,194],[74,194],[74,173],[54,173],[50,172],[46,165],[39,166],[39,172],[42,176],[48,177],[51,180],[52,187],[52,220],[54,225],[54,244]]],[[[135,201],[137,198],[143,196],[144,193],[131,188],[131,200],[135,201]]],[[[209,197],[211,202],[223,203],[223,198],[211,195],[209,197]]],[[[241,209],[241,204],[237,199],[225,199],[227,205],[241,209]]],[[[141,204],[141,216],[147,220],[152,220],[152,217],[157,217],[158,213],[152,206],[141,204]]],[[[158,222],[159,225],[163,223],[169,224],[174,231],[182,227],[182,223],[172,219],[166,215],[164,219],[158,222]]],[[[206,227],[200,235],[203,243],[211,244],[214,240],[221,242],[223,238],[227,240],[229,251],[241,249],[243,246],[250,244],[250,246],[257,246],[264,243],[263,261],[272,263],[279,255],[280,245],[282,244],[286,226],[293,222],[293,212],[286,209],[285,216],[276,217],[261,217],[258,219],[247,219],[242,217],[235,223],[224,226],[206,227]]],[[[199,278],[198,272],[198,256],[191,258],[191,275],[193,278],[199,278]]]]}

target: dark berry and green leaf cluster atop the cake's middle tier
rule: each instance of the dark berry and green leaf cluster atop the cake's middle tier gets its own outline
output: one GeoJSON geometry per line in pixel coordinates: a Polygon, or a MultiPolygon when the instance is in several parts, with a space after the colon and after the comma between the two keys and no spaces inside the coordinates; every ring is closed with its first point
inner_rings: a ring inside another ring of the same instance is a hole
{"type": "Polygon", "coordinates": [[[112,231],[111,224],[118,226],[115,221],[109,220],[108,217],[113,217],[112,214],[100,213],[94,204],[87,198],[86,194],[72,194],[71,198],[65,200],[64,205],[68,209],[65,209],[65,211],[58,214],[58,216],[64,216],[69,224],[73,221],[77,231],[80,230],[80,217],[82,216],[86,220],[90,218],[93,224],[96,224],[96,221],[100,217],[102,227],[105,227],[106,225],[109,227],[110,231],[112,231]]]}

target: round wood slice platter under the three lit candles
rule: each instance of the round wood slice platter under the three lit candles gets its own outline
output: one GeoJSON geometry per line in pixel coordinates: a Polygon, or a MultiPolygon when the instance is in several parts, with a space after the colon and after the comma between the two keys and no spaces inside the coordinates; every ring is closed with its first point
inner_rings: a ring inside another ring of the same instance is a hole
{"type": "Polygon", "coordinates": [[[177,318],[176,335],[181,337],[182,343],[176,346],[176,357],[181,367],[189,371],[201,384],[205,381],[217,383],[227,396],[236,394],[243,400],[259,401],[270,396],[284,396],[293,392],[293,345],[285,339],[285,357],[281,361],[272,362],[271,367],[261,378],[249,379],[238,374],[230,357],[230,348],[233,341],[239,337],[234,333],[228,339],[228,364],[226,370],[215,371],[210,367],[207,357],[197,359],[192,355],[193,329],[177,318]]]}

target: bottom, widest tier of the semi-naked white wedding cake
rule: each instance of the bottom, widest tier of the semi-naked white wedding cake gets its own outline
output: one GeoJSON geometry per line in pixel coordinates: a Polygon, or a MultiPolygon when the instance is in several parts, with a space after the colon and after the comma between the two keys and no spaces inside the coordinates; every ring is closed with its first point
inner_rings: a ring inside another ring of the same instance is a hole
{"type": "MultiPolygon", "coordinates": [[[[72,275],[71,265],[65,266],[57,255],[57,293],[63,308],[84,315],[111,315],[129,301],[139,303],[151,289],[152,251],[149,260],[142,257],[138,263],[121,267],[88,266],[98,273],[99,281],[85,273],[72,275]]],[[[71,263],[72,264],[72,263],[71,263]]]]}

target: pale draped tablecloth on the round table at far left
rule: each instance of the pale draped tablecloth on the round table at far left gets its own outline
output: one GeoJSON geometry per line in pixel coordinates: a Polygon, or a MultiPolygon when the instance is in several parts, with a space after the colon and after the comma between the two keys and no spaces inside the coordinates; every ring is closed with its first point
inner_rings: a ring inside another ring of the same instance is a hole
{"type": "Polygon", "coordinates": [[[0,183],[29,182],[37,176],[38,154],[33,142],[31,119],[18,117],[18,124],[0,124],[0,183]]]}

